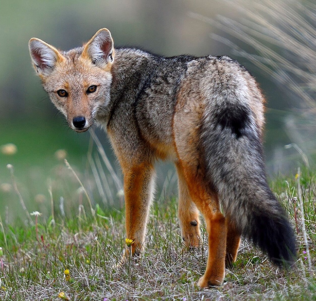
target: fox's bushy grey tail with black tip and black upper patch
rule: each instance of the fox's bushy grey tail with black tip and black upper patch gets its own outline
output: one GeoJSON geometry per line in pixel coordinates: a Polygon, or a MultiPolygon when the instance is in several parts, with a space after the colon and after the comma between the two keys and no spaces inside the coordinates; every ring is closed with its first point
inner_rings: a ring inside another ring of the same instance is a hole
{"type": "Polygon", "coordinates": [[[267,184],[261,131],[254,113],[235,94],[217,101],[220,104],[206,112],[201,129],[207,181],[240,233],[273,262],[290,265],[296,258],[296,240],[267,184]]]}

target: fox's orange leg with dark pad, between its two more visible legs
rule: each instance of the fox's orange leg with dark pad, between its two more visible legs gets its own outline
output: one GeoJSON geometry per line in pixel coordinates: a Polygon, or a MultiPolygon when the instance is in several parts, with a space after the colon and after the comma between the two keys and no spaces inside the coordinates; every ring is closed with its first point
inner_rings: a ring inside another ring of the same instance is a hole
{"type": "Polygon", "coordinates": [[[187,248],[198,247],[200,242],[199,212],[190,197],[188,185],[179,163],[176,163],[176,169],[178,173],[178,218],[181,228],[181,236],[187,248]]]}

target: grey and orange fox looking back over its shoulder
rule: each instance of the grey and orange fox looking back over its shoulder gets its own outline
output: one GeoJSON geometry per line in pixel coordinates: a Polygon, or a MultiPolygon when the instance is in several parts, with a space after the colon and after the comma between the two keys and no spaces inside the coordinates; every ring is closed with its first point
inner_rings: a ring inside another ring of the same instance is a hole
{"type": "Polygon", "coordinates": [[[265,100],[245,67],[228,56],[165,57],[114,48],[106,28],[69,51],[38,38],[30,39],[29,50],[69,127],[82,133],[97,124],[111,141],[123,172],[126,237],[132,241],[125,256],[144,248],[155,164],[169,159],[176,166],[178,221],[187,248],[201,243],[200,213],[206,223],[201,288],[223,284],[241,235],[277,265],[295,263],[291,223],[267,184],[265,100]]]}

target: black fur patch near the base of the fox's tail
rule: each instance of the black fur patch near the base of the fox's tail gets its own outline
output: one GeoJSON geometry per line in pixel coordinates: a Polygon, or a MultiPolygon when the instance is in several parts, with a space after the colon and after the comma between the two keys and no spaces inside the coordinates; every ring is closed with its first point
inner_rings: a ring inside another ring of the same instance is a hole
{"type": "Polygon", "coordinates": [[[236,138],[246,134],[246,129],[249,126],[250,110],[242,105],[234,105],[233,107],[226,106],[215,113],[214,121],[217,122],[222,129],[228,128],[236,138]]]}

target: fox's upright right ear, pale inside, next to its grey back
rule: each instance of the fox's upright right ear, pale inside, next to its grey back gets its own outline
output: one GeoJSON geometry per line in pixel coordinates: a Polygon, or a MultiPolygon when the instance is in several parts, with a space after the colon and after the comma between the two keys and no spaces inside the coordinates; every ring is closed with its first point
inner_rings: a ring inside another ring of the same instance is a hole
{"type": "Polygon", "coordinates": [[[84,46],[82,55],[101,67],[110,67],[114,61],[114,43],[108,29],[100,29],[84,46]]]}

